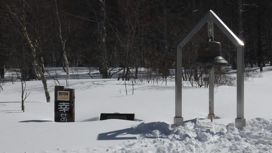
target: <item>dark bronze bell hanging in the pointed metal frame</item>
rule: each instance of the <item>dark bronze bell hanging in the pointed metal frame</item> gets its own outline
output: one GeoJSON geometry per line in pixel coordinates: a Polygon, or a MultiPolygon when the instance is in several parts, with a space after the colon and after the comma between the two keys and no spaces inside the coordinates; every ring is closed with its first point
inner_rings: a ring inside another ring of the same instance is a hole
{"type": "Polygon", "coordinates": [[[192,63],[193,67],[226,66],[228,62],[222,57],[220,42],[203,42],[199,44],[198,58],[192,63]]]}

